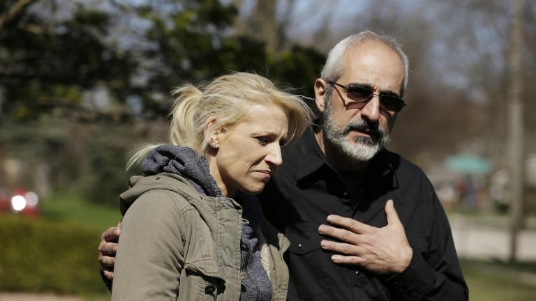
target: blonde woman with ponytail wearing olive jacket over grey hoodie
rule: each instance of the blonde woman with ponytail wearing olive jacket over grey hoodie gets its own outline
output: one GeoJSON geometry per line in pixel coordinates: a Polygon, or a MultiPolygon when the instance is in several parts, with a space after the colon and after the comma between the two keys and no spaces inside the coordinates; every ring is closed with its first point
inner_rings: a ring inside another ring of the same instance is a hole
{"type": "Polygon", "coordinates": [[[145,176],[120,196],[112,300],[285,300],[288,241],[246,195],[262,191],[311,111],[249,73],[173,95],[172,145],[128,164],[144,158],[145,176]]]}

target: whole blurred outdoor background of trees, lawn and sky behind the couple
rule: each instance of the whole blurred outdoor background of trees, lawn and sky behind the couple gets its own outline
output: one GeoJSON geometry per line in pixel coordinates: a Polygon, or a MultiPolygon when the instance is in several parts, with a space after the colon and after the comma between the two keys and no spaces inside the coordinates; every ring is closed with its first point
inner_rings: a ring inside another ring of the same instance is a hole
{"type": "Polygon", "coordinates": [[[173,86],[250,71],[311,97],[364,29],[409,56],[389,149],[435,185],[470,300],[534,300],[532,0],[0,0],[0,300],[109,298],[96,247],[173,86]]]}

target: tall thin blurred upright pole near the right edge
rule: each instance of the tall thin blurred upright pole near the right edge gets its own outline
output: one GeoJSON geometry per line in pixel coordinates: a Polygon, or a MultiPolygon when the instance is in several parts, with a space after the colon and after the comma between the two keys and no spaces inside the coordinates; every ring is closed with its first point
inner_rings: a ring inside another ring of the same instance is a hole
{"type": "Polygon", "coordinates": [[[516,261],[519,231],[523,226],[523,76],[521,74],[521,54],[523,52],[523,0],[512,1],[512,22],[510,28],[509,65],[509,168],[510,168],[510,254],[509,260],[516,261]]]}

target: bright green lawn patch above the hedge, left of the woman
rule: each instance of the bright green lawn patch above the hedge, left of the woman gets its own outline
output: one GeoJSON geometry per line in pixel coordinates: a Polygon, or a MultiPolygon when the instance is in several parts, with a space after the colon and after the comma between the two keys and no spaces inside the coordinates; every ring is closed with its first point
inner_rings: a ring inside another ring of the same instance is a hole
{"type": "MultiPolygon", "coordinates": [[[[101,232],[110,226],[116,226],[121,219],[119,205],[114,208],[90,203],[76,192],[54,193],[40,202],[40,210],[43,217],[77,222],[101,232]]],[[[95,243],[97,244],[98,241],[95,243]]]]}

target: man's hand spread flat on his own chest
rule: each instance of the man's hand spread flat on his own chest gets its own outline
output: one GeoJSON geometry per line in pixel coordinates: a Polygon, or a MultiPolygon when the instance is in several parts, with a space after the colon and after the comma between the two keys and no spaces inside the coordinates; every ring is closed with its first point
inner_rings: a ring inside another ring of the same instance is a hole
{"type": "Polygon", "coordinates": [[[376,228],[355,219],[329,215],[332,226],[320,225],[318,232],[340,242],[322,240],[322,249],[336,252],[332,261],[361,265],[378,274],[400,273],[410,264],[413,250],[405,236],[404,226],[394,210],[393,201],[385,204],[387,226],[376,228]]]}

